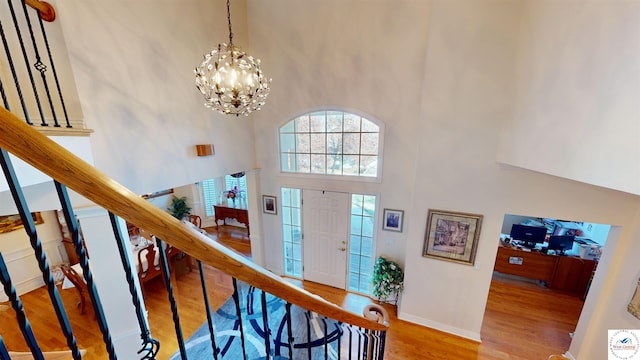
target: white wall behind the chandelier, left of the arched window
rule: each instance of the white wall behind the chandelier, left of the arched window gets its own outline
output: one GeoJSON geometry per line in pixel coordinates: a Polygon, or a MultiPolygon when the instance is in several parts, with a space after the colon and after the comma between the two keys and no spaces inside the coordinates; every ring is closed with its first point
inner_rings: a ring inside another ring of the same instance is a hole
{"type": "MultiPolygon", "coordinates": [[[[254,167],[251,120],[205,108],[195,87],[203,54],[228,42],[224,1],[55,6],[99,169],[144,194],[254,167]],[[196,157],[196,144],[214,144],[215,155],[196,157]]],[[[238,45],[244,6],[232,7],[238,45]]]]}

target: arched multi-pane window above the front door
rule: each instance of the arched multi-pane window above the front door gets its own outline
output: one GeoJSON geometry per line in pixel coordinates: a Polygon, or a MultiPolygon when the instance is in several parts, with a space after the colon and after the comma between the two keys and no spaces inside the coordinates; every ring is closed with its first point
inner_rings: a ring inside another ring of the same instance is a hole
{"type": "Polygon", "coordinates": [[[380,126],[356,114],[317,111],[280,127],[280,168],[287,173],[379,177],[380,126]]]}

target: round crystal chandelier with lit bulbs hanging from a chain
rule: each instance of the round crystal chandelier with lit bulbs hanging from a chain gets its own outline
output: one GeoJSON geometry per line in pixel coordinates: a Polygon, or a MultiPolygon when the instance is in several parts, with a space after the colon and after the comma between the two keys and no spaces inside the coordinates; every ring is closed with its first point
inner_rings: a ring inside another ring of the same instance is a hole
{"type": "Polygon", "coordinates": [[[196,87],[205,106],[222,114],[249,115],[260,110],[269,95],[271,79],[260,70],[260,59],[233,45],[230,0],[227,0],[229,44],[221,43],[196,67],[196,87]]]}

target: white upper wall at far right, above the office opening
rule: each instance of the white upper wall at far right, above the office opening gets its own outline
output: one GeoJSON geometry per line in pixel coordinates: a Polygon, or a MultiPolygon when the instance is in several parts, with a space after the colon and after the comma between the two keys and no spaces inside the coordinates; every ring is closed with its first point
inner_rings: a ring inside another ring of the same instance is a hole
{"type": "Polygon", "coordinates": [[[501,161],[640,194],[640,3],[523,5],[501,161]]]}

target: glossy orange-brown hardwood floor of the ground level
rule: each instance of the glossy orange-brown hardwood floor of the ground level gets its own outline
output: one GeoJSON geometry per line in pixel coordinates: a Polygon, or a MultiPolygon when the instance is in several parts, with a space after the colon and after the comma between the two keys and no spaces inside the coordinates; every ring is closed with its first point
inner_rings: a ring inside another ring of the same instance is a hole
{"type": "MultiPolygon", "coordinates": [[[[221,226],[220,231],[207,230],[217,236],[218,241],[249,256],[249,241],[241,229],[221,226]]],[[[231,295],[231,279],[209,266],[205,266],[205,273],[209,298],[215,309],[231,295]]],[[[358,313],[372,301],[311,282],[291,281],[358,313]]],[[[197,269],[178,276],[174,287],[182,329],[188,338],[205,321],[197,269]]],[[[90,307],[81,315],[75,306],[75,291],[62,290],[60,294],[78,344],[88,350],[85,358],[108,358],[90,307]]],[[[167,359],[178,347],[167,293],[162,282],[154,280],[146,285],[145,294],[151,333],[162,344],[158,359],[167,359]]],[[[23,295],[21,300],[40,346],[44,350],[66,349],[46,290],[37,289],[23,295]]],[[[399,320],[394,310],[387,306],[391,325],[387,332],[385,359],[547,359],[549,355],[562,354],[568,349],[569,333],[575,328],[582,305],[576,297],[534,283],[494,277],[481,344],[399,320]]],[[[0,306],[0,335],[10,350],[27,351],[14,312],[3,306],[0,306]]]]}

